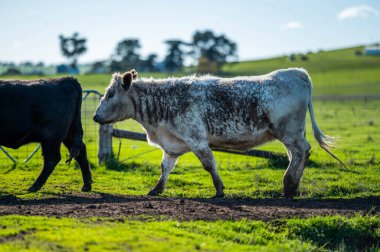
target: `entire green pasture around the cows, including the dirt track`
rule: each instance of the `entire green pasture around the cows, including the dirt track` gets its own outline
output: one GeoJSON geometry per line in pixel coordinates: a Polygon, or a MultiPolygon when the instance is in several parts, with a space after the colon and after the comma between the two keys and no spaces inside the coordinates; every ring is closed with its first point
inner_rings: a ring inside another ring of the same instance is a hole
{"type": "MultiPolygon", "coordinates": [[[[380,94],[380,58],[358,58],[356,49],[316,53],[307,62],[280,57],[225,66],[228,75],[309,71],[317,123],[339,138],[333,151],[348,170],[317,146],[307,117],[312,151],[295,200],[281,198],[286,162],[221,152],[214,154],[226,198],[210,199],[211,177],[193,154],[180,158],[162,196],[144,197],[159,178],[162,152],[114,138],[115,158],[98,166],[98,127],[91,121],[97,97],[89,96],[82,109],[93,191],[80,192],[79,168],[65,165],[63,152],[44,188],[27,193],[40,172],[40,152],[17,166],[0,152],[0,250],[379,249],[380,99],[358,96],[380,94]]],[[[103,93],[110,75],[78,79],[83,89],[103,93]]],[[[116,127],[142,132],[133,121],[116,127]]],[[[34,147],[11,154],[22,160],[34,147]]],[[[278,142],[259,149],[285,150],[278,142]]]]}

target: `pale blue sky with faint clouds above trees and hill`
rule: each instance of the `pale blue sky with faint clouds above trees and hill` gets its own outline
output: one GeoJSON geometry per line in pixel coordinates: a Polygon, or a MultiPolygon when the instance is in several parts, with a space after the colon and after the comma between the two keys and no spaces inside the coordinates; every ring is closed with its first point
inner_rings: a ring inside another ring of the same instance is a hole
{"type": "Polygon", "coordinates": [[[380,41],[380,0],[1,0],[0,62],[67,62],[58,36],[87,38],[79,63],[108,59],[138,38],[142,57],[168,39],[211,29],[238,45],[239,60],[380,41]]]}

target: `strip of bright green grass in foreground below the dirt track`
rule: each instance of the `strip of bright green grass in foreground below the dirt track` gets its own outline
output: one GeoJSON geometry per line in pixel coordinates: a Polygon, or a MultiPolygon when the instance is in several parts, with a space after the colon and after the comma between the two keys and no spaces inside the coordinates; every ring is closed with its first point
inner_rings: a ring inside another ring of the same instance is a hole
{"type": "Polygon", "coordinates": [[[380,219],[360,216],[273,223],[0,217],[0,251],[374,251],[379,239],[380,219]]]}

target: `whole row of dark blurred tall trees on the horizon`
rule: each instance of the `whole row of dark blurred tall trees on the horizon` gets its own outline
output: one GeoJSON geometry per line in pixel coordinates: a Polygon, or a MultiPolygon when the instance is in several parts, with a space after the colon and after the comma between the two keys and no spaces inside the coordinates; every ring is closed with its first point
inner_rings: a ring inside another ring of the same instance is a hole
{"type": "MultiPolygon", "coordinates": [[[[62,54],[70,60],[70,66],[77,68],[78,58],[87,51],[87,39],[74,33],[59,36],[62,54]]],[[[116,44],[108,60],[94,62],[90,72],[115,72],[137,69],[141,72],[178,72],[187,58],[196,62],[198,72],[218,72],[223,64],[237,59],[237,45],[227,36],[217,35],[211,30],[196,31],[191,41],[166,40],[167,52],[159,62],[156,53],[143,57],[142,44],[137,38],[126,38],[116,44]]]]}

